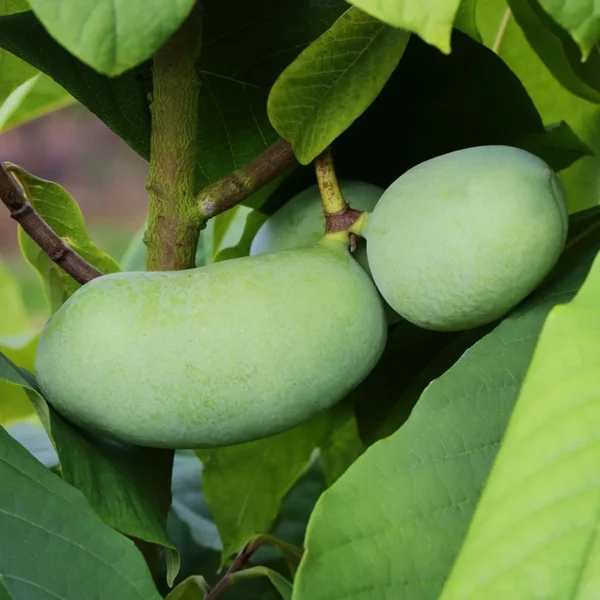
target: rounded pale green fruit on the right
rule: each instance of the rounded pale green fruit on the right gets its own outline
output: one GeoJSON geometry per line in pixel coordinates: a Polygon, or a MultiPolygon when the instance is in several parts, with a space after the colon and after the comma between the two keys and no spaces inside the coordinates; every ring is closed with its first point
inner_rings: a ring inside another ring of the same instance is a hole
{"type": "Polygon", "coordinates": [[[529,295],[566,241],[567,206],[551,169],[507,146],[459,150],[404,173],[366,227],[373,279],[421,327],[494,321],[529,295]]]}

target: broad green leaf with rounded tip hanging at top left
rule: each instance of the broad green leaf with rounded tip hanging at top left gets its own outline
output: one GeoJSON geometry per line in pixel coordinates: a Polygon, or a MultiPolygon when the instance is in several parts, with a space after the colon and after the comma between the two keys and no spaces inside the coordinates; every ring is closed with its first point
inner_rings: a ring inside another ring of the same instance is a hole
{"type": "Polygon", "coordinates": [[[29,0],[50,35],[81,62],[120,75],[150,58],[195,0],[29,0]]]}

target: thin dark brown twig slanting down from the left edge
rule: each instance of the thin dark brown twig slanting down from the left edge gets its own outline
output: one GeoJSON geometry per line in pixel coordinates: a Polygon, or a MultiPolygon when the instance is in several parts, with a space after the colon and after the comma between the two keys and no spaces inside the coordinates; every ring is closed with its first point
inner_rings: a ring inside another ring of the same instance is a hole
{"type": "Polygon", "coordinates": [[[75,250],[65,244],[59,235],[42,219],[14,177],[0,163],[0,200],[10,211],[10,216],[23,228],[23,231],[77,283],[87,283],[103,273],[83,259],[75,250]]]}

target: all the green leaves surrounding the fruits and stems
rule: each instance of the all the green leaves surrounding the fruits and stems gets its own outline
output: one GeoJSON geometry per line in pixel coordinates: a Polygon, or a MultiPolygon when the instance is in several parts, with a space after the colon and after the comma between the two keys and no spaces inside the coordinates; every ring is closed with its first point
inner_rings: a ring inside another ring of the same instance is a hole
{"type": "MultiPolygon", "coordinates": [[[[310,163],[329,146],[340,178],[381,187],[446,152],[529,150],[559,172],[569,242],[497,322],[440,333],[401,320],[332,409],[246,444],[177,451],[173,464],[46,402],[34,376],[40,328],[0,264],[0,598],[214,600],[223,581],[232,600],[593,597],[598,9],[202,4],[194,191],[279,136],[299,164],[206,224],[198,266],[247,256],[266,219],[314,184],[310,163]]],[[[152,57],[193,6],[0,0],[0,131],[79,102],[149,160],[152,57]]],[[[9,166],[87,261],[106,273],[146,268],[145,224],[119,265],[64,188],[9,166]]],[[[19,241],[53,313],[79,284],[22,228],[19,241]]]]}

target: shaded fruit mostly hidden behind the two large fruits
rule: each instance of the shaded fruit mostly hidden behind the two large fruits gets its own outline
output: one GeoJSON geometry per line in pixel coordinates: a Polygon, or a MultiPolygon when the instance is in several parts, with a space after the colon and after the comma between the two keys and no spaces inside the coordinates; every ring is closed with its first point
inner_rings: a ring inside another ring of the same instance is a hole
{"type": "MultiPolygon", "coordinates": [[[[357,210],[372,212],[384,190],[363,181],[341,180],[340,188],[346,202],[357,210]]],[[[252,241],[250,254],[291,250],[316,244],[325,232],[325,216],[319,187],[313,185],[294,196],[263,223],[252,241]]],[[[354,258],[371,273],[367,248],[363,238],[357,238],[354,258]]],[[[395,323],[399,315],[385,307],[388,323],[395,323]]]]}

